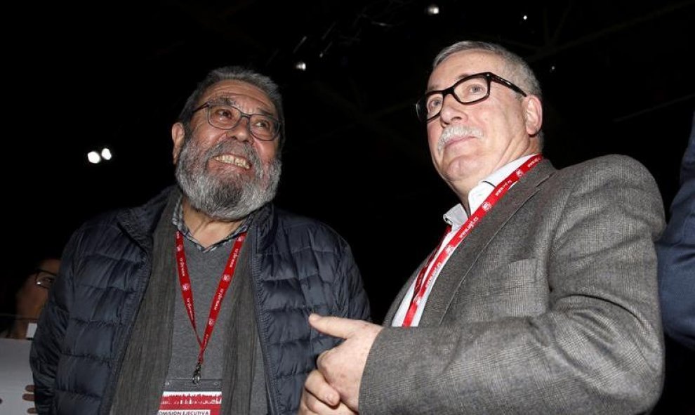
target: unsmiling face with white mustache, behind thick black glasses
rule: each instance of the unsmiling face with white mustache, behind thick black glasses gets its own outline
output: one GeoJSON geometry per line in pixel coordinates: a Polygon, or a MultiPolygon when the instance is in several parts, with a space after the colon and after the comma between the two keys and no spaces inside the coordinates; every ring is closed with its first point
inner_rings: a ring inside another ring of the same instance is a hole
{"type": "MultiPolygon", "coordinates": [[[[448,88],[479,72],[493,72],[515,82],[505,68],[505,62],[488,51],[454,53],[432,72],[428,91],[448,88]]],[[[534,135],[541,128],[541,118],[536,96],[522,98],[496,82],[491,83],[487,99],[472,105],[446,95],[439,116],[427,124],[435,169],[468,205],[468,192],[480,180],[519,157],[540,152],[534,135]]]]}

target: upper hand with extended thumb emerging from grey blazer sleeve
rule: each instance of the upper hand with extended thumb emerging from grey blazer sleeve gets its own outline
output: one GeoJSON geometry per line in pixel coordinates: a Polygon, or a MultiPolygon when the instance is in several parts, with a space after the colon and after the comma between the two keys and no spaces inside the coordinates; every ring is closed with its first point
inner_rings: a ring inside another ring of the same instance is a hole
{"type": "MultiPolygon", "coordinates": [[[[324,334],[345,339],[337,347],[319,355],[316,363],[325,380],[340,394],[340,400],[357,411],[359,385],[362,383],[367,355],[382,327],[362,320],[321,317],[316,314],[309,316],[309,323],[324,334]]],[[[317,398],[331,395],[325,390],[317,393],[319,395],[314,395],[317,398]]],[[[329,402],[322,402],[328,406],[336,403],[330,398],[329,402]]]]}

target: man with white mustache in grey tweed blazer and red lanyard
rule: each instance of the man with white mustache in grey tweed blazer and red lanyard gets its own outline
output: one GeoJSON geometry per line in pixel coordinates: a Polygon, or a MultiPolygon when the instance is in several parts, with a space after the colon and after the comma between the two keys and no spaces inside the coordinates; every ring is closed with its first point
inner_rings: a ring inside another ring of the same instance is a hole
{"type": "MultiPolygon", "coordinates": [[[[460,203],[384,327],[312,315],[300,414],[636,414],[661,393],[661,197],[635,160],[557,170],[541,89],[495,44],[437,55],[417,105],[460,203]]],[[[319,313],[320,314],[320,313],[319,313]]]]}

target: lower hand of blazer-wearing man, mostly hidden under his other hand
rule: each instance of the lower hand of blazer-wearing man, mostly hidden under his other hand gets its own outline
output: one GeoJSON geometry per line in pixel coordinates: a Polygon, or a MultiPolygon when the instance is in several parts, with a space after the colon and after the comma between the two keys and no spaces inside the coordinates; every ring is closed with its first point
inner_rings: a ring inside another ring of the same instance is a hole
{"type": "Polygon", "coordinates": [[[343,402],[340,394],[331,388],[320,371],[314,370],[307,377],[299,403],[299,415],[352,415],[352,411],[343,402]]]}

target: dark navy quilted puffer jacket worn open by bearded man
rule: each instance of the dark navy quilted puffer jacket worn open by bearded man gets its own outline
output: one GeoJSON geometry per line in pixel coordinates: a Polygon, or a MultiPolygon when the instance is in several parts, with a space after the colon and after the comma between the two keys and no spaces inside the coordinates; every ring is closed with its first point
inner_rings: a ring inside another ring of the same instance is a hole
{"type": "MultiPolygon", "coordinates": [[[[109,414],[169,192],[92,220],[72,236],[32,345],[39,413],[109,414]]],[[[256,215],[250,268],[271,413],[294,414],[317,355],[337,344],[310,331],[309,313],[364,320],[369,303],[350,247],[336,232],[272,205],[256,215]]]]}

